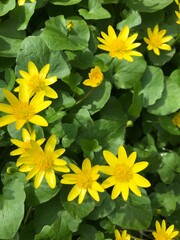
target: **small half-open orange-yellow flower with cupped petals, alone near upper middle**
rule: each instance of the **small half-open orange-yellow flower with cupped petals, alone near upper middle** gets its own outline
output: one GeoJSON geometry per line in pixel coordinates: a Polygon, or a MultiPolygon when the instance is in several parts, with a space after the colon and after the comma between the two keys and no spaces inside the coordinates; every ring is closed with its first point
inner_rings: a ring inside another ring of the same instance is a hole
{"type": "Polygon", "coordinates": [[[99,67],[91,69],[89,79],[84,80],[83,84],[90,87],[98,87],[103,80],[103,73],[99,67]]]}

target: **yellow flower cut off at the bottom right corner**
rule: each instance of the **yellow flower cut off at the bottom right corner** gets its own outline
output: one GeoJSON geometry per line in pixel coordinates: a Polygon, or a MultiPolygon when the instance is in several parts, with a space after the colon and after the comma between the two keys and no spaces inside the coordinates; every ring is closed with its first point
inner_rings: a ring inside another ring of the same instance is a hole
{"type": "Polygon", "coordinates": [[[179,231],[174,231],[174,225],[166,229],[166,222],[162,220],[162,224],[156,221],[156,232],[153,232],[152,235],[156,240],[171,240],[178,235],[179,231]]]}

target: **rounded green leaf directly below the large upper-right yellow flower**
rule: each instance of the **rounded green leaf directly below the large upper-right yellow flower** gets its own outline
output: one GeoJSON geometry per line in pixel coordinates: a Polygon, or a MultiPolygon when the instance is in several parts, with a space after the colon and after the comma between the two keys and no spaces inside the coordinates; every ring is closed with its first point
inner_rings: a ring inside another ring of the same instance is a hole
{"type": "Polygon", "coordinates": [[[146,69],[146,62],[142,57],[134,58],[133,62],[114,59],[113,67],[113,82],[116,88],[127,89],[132,88],[141,79],[146,69]]]}

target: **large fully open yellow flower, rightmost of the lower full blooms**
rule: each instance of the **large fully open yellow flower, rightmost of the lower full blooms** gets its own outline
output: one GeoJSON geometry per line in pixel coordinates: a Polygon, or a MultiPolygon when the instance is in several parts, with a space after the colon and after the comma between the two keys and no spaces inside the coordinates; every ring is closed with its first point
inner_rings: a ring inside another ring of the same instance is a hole
{"type": "Polygon", "coordinates": [[[126,201],[129,196],[129,189],[137,196],[141,196],[139,187],[149,187],[150,182],[138,174],[141,170],[148,166],[148,162],[134,163],[136,160],[136,152],[127,157],[126,150],[123,146],[118,149],[118,158],[109,151],[103,151],[104,158],[109,166],[101,166],[100,171],[110,175],[102,186],[106,189],[113,187],[111,198],[115,199],[122,193],[123,199],[126,201]]]}

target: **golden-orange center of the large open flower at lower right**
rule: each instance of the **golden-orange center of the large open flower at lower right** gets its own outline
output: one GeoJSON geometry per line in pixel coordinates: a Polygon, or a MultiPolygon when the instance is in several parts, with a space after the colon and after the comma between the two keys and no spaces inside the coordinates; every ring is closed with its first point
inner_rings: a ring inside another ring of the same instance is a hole
{"type": "Polygon", "coordinates": [[[118,182],[129,182],[133,177],[133,172],[126,164],[118,164],[114,170],[114,176],[118,182]]]}

